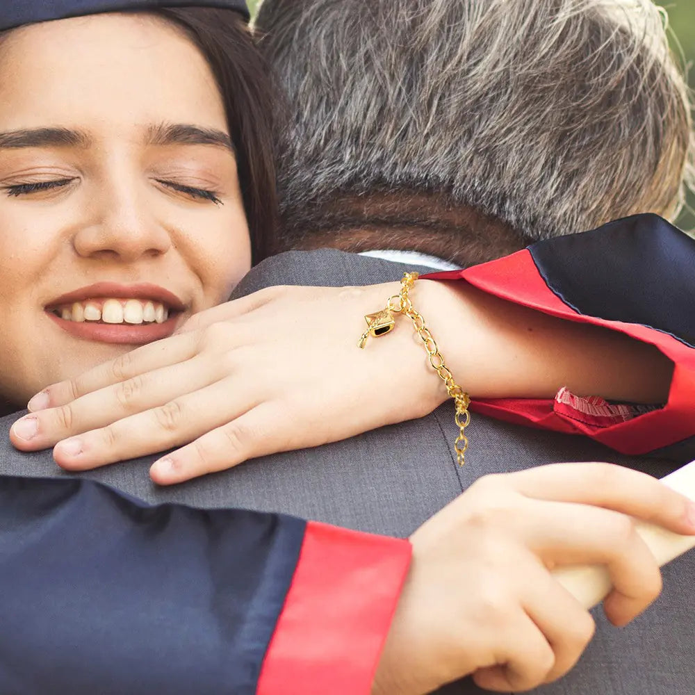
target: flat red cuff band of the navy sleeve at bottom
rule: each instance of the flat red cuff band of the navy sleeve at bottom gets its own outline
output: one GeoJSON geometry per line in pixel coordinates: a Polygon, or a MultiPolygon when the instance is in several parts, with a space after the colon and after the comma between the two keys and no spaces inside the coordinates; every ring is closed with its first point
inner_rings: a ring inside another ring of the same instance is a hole
{"type": "Polygon", "coordinates": [[[408,541],[309,522],[257,695],[368,695],[408,541]]]}

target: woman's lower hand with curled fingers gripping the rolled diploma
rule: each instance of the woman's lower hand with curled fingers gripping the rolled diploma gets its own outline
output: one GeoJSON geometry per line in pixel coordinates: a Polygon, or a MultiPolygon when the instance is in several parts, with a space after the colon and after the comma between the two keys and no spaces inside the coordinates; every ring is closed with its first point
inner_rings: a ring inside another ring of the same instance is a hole
{"type": "Polygon", "coordinates": [[[603,564],[605,612],[624,626],[661,590],[632,517],[695,534],[693,503],[609,464],[554,464],[481,478],[411,537],[414,559],[374,695],[420,695],[473,674],[496,692],[563,676],[594,633],[550,570],[603,564]]]}

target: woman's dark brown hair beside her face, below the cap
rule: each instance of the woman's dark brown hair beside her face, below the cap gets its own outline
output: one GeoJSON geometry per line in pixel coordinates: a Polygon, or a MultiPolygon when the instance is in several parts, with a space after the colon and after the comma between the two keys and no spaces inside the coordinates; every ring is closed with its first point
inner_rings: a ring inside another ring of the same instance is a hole
{"type": "Polygon", "coordinates": [[[277,92],[243,17],[213,8],[154,10],[178,24],[202,51],[218,82],[251,233],[254,262],[268,255],[277,224],[277,92]]]}

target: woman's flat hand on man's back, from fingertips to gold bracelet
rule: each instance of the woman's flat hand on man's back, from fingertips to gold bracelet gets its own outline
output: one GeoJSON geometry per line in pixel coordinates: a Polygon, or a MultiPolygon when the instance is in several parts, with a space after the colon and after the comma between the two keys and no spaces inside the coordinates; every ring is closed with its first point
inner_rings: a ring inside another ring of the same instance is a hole
{"type": "Polygon", "coordinates": [[[399,288],[277,287],[215,307],[50,386],[10,437],[27,451],[60,442],[54,457],[71,471],[182,447],[152,467],[170,484],[423,416],[446,393],[408,320],[357,347],[363,315],[399,288]]]}

